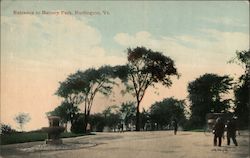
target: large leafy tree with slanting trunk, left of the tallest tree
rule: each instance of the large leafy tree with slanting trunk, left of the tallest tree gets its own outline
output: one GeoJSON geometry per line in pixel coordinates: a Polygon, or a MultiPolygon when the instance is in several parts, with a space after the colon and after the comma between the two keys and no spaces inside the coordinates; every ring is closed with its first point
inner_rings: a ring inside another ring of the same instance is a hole
{"type": "Polygon", "coordinates": [[[84,131],[86,132],[90,111],[97,93],[109,95],[115,77],[111,66],[102,66],[99,69],[89,68],[77,71],[60,82],[56,94],[74,105],[84,105],[84,131]]]}

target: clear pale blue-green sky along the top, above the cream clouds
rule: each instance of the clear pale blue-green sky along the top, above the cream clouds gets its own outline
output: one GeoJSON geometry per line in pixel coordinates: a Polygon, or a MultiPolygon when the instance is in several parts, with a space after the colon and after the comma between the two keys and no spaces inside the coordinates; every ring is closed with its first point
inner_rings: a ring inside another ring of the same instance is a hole
{"type": "Polygon", "coordinates": [[[11,5],[12,3],[5,3],[9,7],[3,8],[2,15],[12,16],[15,9],[108,10],[110,16],[87,17],[89,25],[100,31],[102,46],[108,49],[119,48],[113,40],[118,32],[135,34],[143,30],[156,37],[183,34],[206,36],[200,31],[202,29],[249,32],[249,9],[246,1],[24,1],[11,5]]]}

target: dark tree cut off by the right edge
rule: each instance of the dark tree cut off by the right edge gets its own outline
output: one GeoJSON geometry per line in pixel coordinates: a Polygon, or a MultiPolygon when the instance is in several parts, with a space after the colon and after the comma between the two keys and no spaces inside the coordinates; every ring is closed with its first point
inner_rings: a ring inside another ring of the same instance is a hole
{"type": "Polygon", "coordinates": [[[243,67],[245,73],[239,78],[238,84],[234,88],[235,107],[234,113],[238,117],[240,127],[247,127],[249,124],[250,113],[250,50],[236,51],[236,57],[230,61],[243,67]]]}

